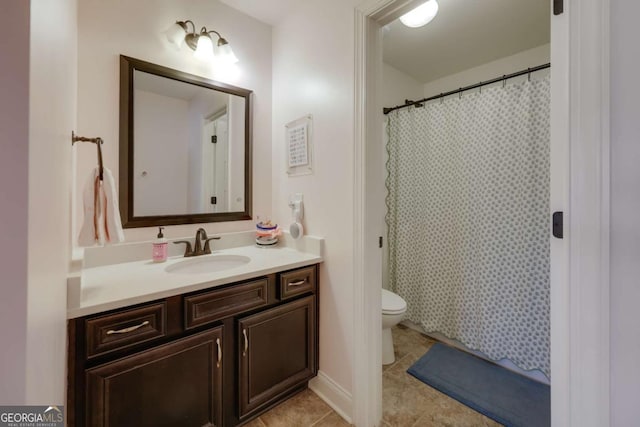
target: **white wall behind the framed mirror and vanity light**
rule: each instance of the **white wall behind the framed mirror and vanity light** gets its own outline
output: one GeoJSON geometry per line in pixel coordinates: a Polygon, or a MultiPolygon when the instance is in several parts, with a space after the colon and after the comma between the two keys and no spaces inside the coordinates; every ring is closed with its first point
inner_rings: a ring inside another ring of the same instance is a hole
{"type": "MultiPolygon", "coordinates": [[[[78,2],[78,133],[105,140],[104,161],[118,177],[119,55],[160,64],[254,91],[253,212],[271,213],[271,27],[215,0],[83,0],[78,2]],[[211,69],[162,34],[176,20],[219,31],[240,62],[211,69]]],[[[95,149],[77,147],[78,189],[95,166],[95,149]]],[[[75,212],[82,221],[78,200],[75,212]]],[[[81,224],[76,224],[79,229],[81,224]]],[[[211,233],[247,230],[252,221],[206,224],[211,233]]],[[[190,236],[193,225],[167,227],[167,237],[190,236]]],[[[155,229],[125,230],[127,241],[150,240],[155,229]]]]}

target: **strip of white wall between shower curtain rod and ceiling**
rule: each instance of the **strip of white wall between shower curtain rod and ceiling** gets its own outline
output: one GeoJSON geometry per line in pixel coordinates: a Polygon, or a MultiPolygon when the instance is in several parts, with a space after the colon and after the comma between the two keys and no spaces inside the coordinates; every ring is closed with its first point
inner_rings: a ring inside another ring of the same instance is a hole
{"type": "Polygon", "coordinates": [[[549,44],[528,49],[478,67],[426,82],[423,88],[424,97],[434,96],[481,81],[491,80],[505,74],[515,73],[526,68],[546,64],[550,61],[550,58],[549,44]]]}

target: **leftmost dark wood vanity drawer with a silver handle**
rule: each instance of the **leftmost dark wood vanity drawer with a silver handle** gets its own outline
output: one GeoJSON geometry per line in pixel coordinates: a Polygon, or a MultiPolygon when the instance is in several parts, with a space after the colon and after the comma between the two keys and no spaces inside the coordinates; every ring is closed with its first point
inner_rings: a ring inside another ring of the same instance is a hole
{"type": "Polygon", "coordinates": [[[87,358],[165,336],[166,311],[166,303],[158,302],[87,319],[87,358]]]}

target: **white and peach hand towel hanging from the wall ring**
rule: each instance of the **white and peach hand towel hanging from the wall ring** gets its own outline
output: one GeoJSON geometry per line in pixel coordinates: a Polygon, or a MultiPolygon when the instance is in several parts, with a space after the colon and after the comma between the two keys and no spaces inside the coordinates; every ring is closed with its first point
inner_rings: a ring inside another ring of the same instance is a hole
{"type": "Polygon", "coordinates": [[[78,236],[80,246],[124,241],[113,175],[103,168],[102,177],[103,181],[100,181],[100,170],[95,168],[84,187],[84,223],[78,236]]]}

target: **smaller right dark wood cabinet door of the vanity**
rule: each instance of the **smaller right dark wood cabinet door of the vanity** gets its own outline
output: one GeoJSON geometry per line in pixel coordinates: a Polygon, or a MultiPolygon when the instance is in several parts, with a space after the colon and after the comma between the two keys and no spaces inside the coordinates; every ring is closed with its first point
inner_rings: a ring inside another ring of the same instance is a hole
{"type": "Polygon", "coordinates": [[[239,320],[240,419],[317,373],[315,296],[239,320]]]}

